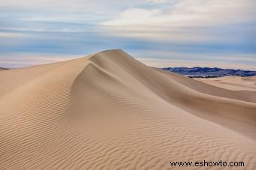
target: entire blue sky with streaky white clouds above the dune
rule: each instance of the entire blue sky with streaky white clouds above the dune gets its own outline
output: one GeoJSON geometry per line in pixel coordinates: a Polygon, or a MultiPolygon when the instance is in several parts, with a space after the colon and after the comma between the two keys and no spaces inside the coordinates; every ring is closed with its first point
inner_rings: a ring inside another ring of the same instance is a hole
{"type": "Polygon", "coordinates": [[[154,67],[256,70],[254,0],[0,0],[0,67],[123,49],[154,67]]]}

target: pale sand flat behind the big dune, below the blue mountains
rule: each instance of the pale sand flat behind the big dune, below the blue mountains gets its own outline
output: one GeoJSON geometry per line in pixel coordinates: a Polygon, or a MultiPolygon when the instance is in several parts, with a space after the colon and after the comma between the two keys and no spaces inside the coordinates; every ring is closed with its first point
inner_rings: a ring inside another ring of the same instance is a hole
{"type": "Polygon", "coordinates": [[[197,80],[233,91],[256,91],[256,76],[225,76],[209,79],[199,78],[197,80]]]}

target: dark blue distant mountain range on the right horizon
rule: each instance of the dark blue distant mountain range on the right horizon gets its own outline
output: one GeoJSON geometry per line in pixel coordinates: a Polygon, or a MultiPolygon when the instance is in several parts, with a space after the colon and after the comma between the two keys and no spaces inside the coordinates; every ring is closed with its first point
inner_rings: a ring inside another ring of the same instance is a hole
{"type": "Polygon", "coordinates": [[[178,73],[189,77],[220,77],[220,76],[256,76],[256,71],[234,70],[209,67],[166,67],[162,68],[170,72],[178,73]]]}

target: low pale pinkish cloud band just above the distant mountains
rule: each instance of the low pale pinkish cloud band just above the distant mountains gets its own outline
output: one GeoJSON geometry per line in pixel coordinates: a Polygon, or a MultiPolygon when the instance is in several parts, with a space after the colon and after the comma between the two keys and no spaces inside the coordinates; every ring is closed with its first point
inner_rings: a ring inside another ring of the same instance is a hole
{"type": "Polygon", "coordinates": [[[148,50],[137,52],[136,57],[152,67],[223,67],[256,70],[254,54],[212,54],[148,50]]]}

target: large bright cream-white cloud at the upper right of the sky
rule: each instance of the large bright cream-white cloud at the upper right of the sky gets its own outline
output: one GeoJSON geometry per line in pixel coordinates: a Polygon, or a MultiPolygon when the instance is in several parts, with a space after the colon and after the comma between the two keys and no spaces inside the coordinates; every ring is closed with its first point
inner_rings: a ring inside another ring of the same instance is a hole
{"type": "MultiPolygon", "coordinates": [[[[248,29],[248,23],[256,25],[256,3],[252,0],[233,0],[232,3],[222,0],[151,2],[172,5],[154,9],[128,8],[115,19],[102,22],[102,25],[108,26],[108,34],[115,32],[124,37],[177,42],[230,42],[241,29],[248,29]],[[228,31],[233,36],[227,34],[228,31]]],[[[247,34],[253,34],[255,30],[249,31],[247,34]]]]}

